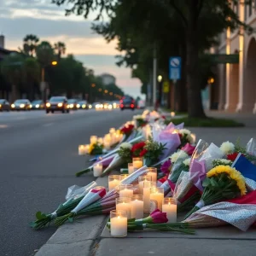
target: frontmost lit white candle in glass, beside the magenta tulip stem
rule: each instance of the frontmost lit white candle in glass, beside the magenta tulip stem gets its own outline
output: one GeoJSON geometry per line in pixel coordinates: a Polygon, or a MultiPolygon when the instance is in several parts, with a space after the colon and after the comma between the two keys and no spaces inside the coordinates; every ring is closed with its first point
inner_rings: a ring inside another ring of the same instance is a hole
{"type": "Polygon", "coordinates": [[[110,212],[111,236],[127,236],[127,214],[124,211],[110,212]]]}

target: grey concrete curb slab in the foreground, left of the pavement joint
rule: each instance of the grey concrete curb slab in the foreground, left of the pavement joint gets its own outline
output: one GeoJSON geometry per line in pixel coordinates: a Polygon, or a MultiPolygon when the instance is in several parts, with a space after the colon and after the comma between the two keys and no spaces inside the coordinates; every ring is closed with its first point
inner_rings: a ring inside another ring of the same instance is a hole
{"type": "MultiPolygon", "coordinates": [[[[108,187],[108,177],[98,177],[98,185],[108,187]]],[[[36,256],[87,256],[95,247],[108,216],[81,218],[73,224],[64,224],[38,250],[36,256]]]]}

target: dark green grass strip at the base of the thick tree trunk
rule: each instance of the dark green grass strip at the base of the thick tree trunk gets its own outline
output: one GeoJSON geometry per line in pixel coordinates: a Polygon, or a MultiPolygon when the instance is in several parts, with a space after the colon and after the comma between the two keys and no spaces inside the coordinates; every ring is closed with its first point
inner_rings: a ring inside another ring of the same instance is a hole
{"type": "Polygon", "coordinates": [[[166,124],[172,121],[174,125],[184,123],[186,127],[243,127],[244,124],[236,122],[233,119],[195,119],[189,117],[166,119],[166,124]]]}

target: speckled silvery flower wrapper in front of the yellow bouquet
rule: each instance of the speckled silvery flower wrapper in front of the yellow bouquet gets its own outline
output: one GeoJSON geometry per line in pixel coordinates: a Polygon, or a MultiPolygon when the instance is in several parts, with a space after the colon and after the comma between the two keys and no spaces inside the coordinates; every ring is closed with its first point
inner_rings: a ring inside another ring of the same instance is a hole
{"type": "Polygon", "coordinates": [[[231,224],[242,231],[246,231],[255,221],[256,205],[226,201],[202,207],[184,220],[195,228],[231,224]]]}

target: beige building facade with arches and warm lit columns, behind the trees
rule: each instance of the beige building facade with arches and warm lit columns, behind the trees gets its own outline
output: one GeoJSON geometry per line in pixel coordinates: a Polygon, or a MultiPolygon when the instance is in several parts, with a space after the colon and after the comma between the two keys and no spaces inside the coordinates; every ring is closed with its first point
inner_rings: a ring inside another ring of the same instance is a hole
{"type": "MultiPolygon", "coordinates": [[[[256,1],[233,6],[241,21],[256,28],[256,1]]],[[[230,29],[220,35],[216,54],[237,56],[237,61],[218,64],[215,82],[209,85],[209,105],[230,112],[256,113],[256,33],[230,29]]]]}

